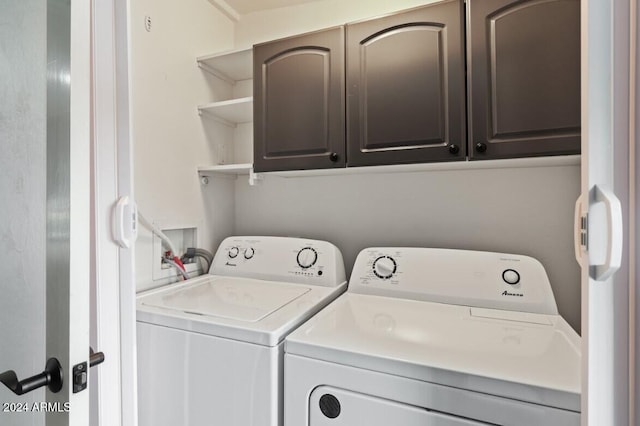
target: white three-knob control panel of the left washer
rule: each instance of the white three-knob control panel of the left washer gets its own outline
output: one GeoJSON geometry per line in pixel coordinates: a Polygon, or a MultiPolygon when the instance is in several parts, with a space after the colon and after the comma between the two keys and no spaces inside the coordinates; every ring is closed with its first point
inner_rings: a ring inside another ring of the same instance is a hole
{"type": "Polygon", "coordinates": [[[346,281],[342,253],[327,241],[289,237],[229,237],[212,275],[336,287],[346,281]]]}

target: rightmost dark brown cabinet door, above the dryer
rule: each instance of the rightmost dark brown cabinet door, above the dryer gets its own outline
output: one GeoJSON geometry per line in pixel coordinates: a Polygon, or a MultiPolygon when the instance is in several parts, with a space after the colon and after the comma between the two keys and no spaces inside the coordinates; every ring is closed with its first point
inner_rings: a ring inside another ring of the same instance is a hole
{"type": "Polygon", "coordinates": [[[472,159],[580,152],[580,1],[467,2],[472,159]]]}

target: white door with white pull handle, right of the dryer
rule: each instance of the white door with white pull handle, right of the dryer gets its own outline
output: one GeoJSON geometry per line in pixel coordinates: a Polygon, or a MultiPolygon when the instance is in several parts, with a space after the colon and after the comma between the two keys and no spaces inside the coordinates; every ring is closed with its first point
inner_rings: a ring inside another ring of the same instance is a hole
{"type": "Polygon", "coordinates": [[[633,415],[629,117],[635,102],[630,96],[634,2],[582,2],[582,202],[576,257],[582,265],[585,425],[628,425],[633,415]]]}

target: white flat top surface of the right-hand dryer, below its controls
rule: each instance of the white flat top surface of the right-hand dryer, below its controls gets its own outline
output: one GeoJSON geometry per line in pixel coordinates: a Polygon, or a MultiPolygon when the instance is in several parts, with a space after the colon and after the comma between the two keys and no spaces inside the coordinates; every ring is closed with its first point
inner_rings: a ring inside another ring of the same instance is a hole
{"type": "Polygon", "coordinates": [[[580,411],[580,338],[558,315],[346,293],[291,333],[285,350],[580,411]]]}

